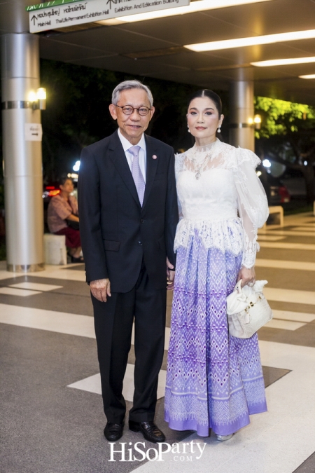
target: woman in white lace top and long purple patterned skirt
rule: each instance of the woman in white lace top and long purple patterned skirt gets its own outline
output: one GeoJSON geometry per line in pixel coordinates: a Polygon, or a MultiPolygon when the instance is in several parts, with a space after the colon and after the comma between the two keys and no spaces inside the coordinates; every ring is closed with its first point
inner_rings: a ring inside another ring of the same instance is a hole
{"type": "Polygon", "coordinates": [[[268,216],[252,151],[216,138],[221,99],[200,90],[189,102],[195,146],[176,156],[180,221],[168,352],[165,420],[227,440],[267,410],[257,334],[228,333],[226,297],[255,281],[257,230],[268,216]]]}

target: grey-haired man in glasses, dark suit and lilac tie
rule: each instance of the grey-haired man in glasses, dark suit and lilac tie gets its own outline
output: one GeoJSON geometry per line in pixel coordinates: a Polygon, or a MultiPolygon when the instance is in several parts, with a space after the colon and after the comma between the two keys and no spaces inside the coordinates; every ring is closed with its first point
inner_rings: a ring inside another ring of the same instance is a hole
{"type": "Polygon", "coordinates": [[[80,236],[107,418],[104,435],[109,441],[123,435],[123,378],[134,322],[129,428],[149,441],[165,441],[154,415],[179,217],[174,150],[144,135],[154,113],[146,85],[120,83],[109,111],[118,130],[83,149],[78,179],[80,236]]]}

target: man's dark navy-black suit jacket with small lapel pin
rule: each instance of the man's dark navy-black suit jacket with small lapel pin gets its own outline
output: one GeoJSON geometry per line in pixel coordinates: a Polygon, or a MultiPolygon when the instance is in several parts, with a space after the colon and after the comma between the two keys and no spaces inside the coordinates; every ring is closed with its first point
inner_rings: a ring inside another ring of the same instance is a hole
{"type": "Polygon", "coordinates": [[[175,265],[174,150],[158,139],[145,139],[143,207],[117,131],[81,154],[78,205],[86,279],[109,277],[113,292],[134,287],[143,257],[156,289],[166,287],[166,256],[175,265]]]}

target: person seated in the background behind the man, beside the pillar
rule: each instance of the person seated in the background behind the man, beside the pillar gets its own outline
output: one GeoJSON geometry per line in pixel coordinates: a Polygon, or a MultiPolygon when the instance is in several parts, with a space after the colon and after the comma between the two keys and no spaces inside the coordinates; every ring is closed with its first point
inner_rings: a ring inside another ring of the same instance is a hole
{"type": "Polygon", "coordinates": [[[73,193],[73,181],[69,177],[62,177],[59,180],[60,193],[52,197],[48,205],[48,228],[55,235],[66,235],[66,247],[69,248],[71,263],[83,263],[80,256],[81,241],[78,228],[78,201],[73,193]],[[69,224],[67,223],[69,221],[69,224]],[[73,222],[73,226],[71,226],[73,222]],[[75,224],[76,222],[76,224],[75,224]]]}

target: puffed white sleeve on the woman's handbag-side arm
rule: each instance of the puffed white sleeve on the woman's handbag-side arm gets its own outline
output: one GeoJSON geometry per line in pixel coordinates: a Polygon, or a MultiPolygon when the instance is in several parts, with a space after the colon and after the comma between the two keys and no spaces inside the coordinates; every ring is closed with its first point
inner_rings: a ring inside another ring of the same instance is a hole
{"type": "Polygon", "coordinates": [[[256,252],[258,228],[262,227],[269,215],[267,197],[255,167],[260,159],[248,149],[238,148],[235,167],[235,186],[237,188],[237,208],[244,228],[244,250],[242,266],[252,268],[256,252]]]}

